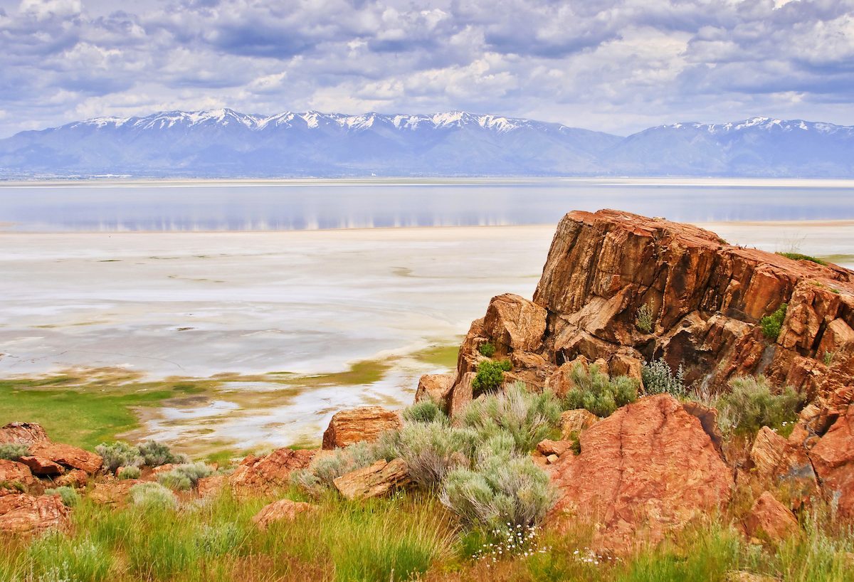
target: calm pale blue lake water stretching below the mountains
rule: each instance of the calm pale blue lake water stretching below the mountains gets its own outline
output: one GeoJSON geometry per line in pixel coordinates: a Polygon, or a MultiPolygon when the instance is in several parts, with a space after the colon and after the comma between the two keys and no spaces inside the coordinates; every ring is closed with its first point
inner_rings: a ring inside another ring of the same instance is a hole
{"type": "Polygon", "coordinates": [[[13,231],[319,230],[556,224],[611,207],[684,222],[854,218],[854,182],[333,180],[0,185],[13,231]]]}

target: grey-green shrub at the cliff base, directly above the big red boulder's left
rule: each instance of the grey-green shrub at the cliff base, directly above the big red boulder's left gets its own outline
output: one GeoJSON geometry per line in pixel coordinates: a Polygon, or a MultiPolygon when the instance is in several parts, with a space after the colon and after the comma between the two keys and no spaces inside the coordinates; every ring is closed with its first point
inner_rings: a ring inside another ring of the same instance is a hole
{"type": "Polygon", "coordinates": [[[576,364],[570,370],[570,379],[575,387],[564,396],[567,410],[584,408],[596,416],[611,416],[617,408],[637,399],[637,381],[624,375],[610,378],[595,364],[587,369],[576,364]]]}

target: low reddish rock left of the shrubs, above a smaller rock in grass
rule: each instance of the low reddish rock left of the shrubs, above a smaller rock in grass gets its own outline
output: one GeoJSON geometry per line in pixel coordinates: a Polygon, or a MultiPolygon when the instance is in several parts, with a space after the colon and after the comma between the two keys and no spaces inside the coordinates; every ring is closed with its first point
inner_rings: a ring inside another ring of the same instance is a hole
{"type": "Polygon", "coordinates": [[[277,449],[266,457],[249,455],[237,465],[237,469],[228,478],[229,485],[236,492],[269,493],[275,489],[287,487],[290,472],[307,469],[317,451],[305,449],[277,449]]]}

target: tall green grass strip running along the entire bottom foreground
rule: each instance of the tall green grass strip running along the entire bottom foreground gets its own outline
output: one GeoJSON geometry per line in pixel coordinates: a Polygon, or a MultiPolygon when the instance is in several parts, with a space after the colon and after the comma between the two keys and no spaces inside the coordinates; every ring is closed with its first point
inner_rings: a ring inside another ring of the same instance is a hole
{"type": "Polygon", "coordinates": [[[779,546],[751,545],[735,527],[712,520],[622,557],[594,553],[593,528],[574,523],[561,533],[541,531],[526,548],[530,556],[511,550],[492,562],[488,548],[486,558],[473,557],[492,538],[461,532],[430,494],[366,502],[327,494],[315,512],[261,531],[251,518],[273,499],[224,492],[203,503],[186,500],[180,509],[147,510],[84,499],[65,533],[0,538],[0,579],[723,582],[737,570],[793,582],[854,579],[846,558],[854,536],[828,514],[804,515],[802,535],[779,546]]]}

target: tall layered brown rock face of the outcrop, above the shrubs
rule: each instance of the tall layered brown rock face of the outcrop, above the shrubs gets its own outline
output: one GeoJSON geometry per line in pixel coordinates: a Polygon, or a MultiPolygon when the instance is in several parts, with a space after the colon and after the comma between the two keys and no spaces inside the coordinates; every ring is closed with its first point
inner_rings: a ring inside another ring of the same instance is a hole
{"type": "Polygon", "coordinates": [[[579,357],[633,376],[641,361],[664,358],[713,393],[735,375],[764,374],[816,402],[811,428],[822,434],[854,393],[854,271],[728,245],[661,218],[570,212],[534,300],[500,295],[472,323],[451,408],[471,398],[471,373],[484,359],[478,347],[487,342],[511,360],[509,380],[558,392],[561,366],[579,357]],[[783,303],[780,335],[768,340],[759,321],[783,303]],[[649,327],[639,325],[642,311],[649,327]]]}

